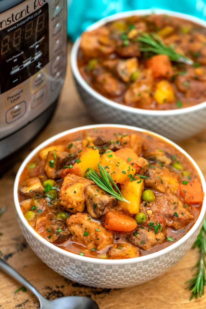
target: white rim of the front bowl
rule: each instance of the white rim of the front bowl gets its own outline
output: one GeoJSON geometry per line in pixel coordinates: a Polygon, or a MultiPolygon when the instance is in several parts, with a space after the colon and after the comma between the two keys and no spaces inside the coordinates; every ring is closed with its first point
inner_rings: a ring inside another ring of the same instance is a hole
{"type": "Polygon", "coordinates": [[[134,127],[134,126],[129,126],[129,125],[116,125],[116,124],[95,124],[95,125],[86,125],[86,126],[81,126],[81,127],[77,127],[77,128],[73,128],[73,129],[69,129],[66,130],[64,132],[58,133],[50,138],[48,138],[47,140],[45,140],[44,142],[42,142],[39,146],[37,146],[34,150],[32,150],[32,152],[27,155],[27,157],[23,160],[23,163],[21,164],[21,166],[19,167],[19,170],[16,174],[15,177],[15,183],[14,183],[14,202],[15,202],[15,210],[16,210],[16,214],[19,217],[19,220],[22,222],[23,226],[27,229],[27,231],[32,234],[32,237],[34,237],[35,239],[37,239],[40,243],[42,243],[45,247],[49,248],[50,250],[52,250],[53,252],[59,253],[65,257],[68,258],[72,258],[74,260],[78,260],[81,262],[85,262],[85,263],[92,263],[92,264],[98,264],[98,265],[128,265],[128,264],[134,264],[134,263],[141,263],[147,260],[151,260],[151,259],[155,259],[158,258],[160,256],[165,255],[166,253],[169,253],[171,251],[174,251],[176,248],[180,247],[181,245],[183,245],[183,243],[185,243],[194,233],[195,231],[199,228],[202,220],[204,219],[205,213],[206,213],[206,182],[204,180],[204,176],[200,170],[200,168],[198,167],[197,163],[195,163],[195,161],[191,158],[190,155],[187,154],[187,152],[185,150],[183,150],[180,146],[178,146],[177,144],[175,144],[174,142],[170,141],[168,138],[165,138],[157,133],[153,133],[152,131],[146,130],[146,129],[141,129],[138,127],[134,127]],[[37,154],[37,152],[44,148],[45,146],[47,146],[48,144],[50,144],[51,142],[54,142],[55,140],[57,140],[58,138],[61,138],[69,133],[73,133],[73,132],[77,132],[80,130],[87,130],[87,129],[95,129],[95,128],[121,128],[121,129],[132,129],[135,131],[139,131],[139,132],[145,132],[145,133],[149,133],[152,134],[153,136],[156,136],[158,138],[163,139],[165,142],[170,143],[170,145],[176,147],[181,153],[183,153],[189,160],[190,162],[194,165],[195,169],[197,170],[200,179],[201,179],[201,183],[202,183],[202,188],[203,188],[203,192],[205,193],[204,195],[204,201],[202,204],[202,208],[199,214],[199,217],[197,218],[195,224],[191,227],[191,229],[181,238],[179,239],[177,242],[172,243],[170,246],[158,251],[158,252],[154,252],[151,254],[148,254],[146,256],[139,256],[139,257],[135,257],[135,258],[130,258],[130,259],[120,259],[120,260],[104,260],[104,259],[98,259],[98,258],[93,258],[93,257],[87,257],[87,256],[80,256],[78,254],[66,251],[60,247],[55,246],[52,243],[49,243],[46,239],[44,239],[43,237],[41,237],[33,228],[32,226],[30,226],[27,222],[27,220],[24,218],[23,212],[20,208],[19,205],[19,200],[18,200],[18,185],[19,185],[19,178],[23,172],[23,169],[26,167],[27,163],[33,158],[34,155],[37,154]]]}

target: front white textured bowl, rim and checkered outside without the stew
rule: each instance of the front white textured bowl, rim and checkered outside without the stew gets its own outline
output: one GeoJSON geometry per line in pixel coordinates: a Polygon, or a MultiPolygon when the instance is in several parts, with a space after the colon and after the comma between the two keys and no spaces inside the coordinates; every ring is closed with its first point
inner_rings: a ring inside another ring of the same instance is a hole
{"type": "MultiPolygon", "coordinates": [[[[130,127],[128,125],[87,125],[59,133],[41,143],[23,161],[15,179],[14,201],[18,222],[23,235],[27,240],[27,243],[30,245],[36,255],[39,256],[40,259],[54,271],[66,278],[88,286],[102,288],[123,288],[137,285],[158,277],[172,265],[177,263],[186,254],[200,232],[200,228],[202,226],[206,212],[206,197],[204,198],[202,209],[197,221],[186,235],[184,235],[177,242],[171,244],[169,247],[146,256],[125,260],[101,260],[67,252],[49,243],[47,240],[38,235],[36,231],[34,231],[34,229],[28,224],[27,220],[23,216],[17,193],[19,177],[33,156],[36,155],[40,149],[46,147],[57,138],[61,138],[62,136],[72,132],[77,132],[82,129],[103,127],[132,129],[136,131],[151,133],[154,136],[163,138],[156,133],[149,132],[145,129],[130,127]]],[[[186,155],[191,163],[195,166],[202,181],[203,191],[206,193],[206,183],[204,176],[202,175],[200,168],[197,166],[194,160],[178,145],[174,144],[166,138],[163,139],[166,142],[169,142],[171,145],[175,146],[184,155],[186,155]]]]}

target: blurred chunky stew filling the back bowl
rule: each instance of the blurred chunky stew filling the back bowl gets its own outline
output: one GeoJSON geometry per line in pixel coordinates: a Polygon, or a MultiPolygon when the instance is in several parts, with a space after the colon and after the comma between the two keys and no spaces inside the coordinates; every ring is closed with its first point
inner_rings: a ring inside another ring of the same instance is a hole
{"type": "Polygon", "coordinates": [[[206,100],[205,44],[206,28],[191,21],[155,14],[130,16],[84,32],[78,67],[92,88],[120,104],[183,108],[206,100]],[[162,48],[159,40],[166,46],[162,48]],[[171,48],[182,56],[175,59],[171,48]],[[183,63],[183,56],[190,61],[183,63]]]}

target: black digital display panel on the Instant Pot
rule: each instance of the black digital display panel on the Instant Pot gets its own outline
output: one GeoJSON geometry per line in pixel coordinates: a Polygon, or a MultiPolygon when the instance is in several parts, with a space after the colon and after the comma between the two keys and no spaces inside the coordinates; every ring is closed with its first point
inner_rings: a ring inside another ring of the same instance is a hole
{"type": "Polygon", "coordinates": [[[49,61],[48,3],[0,31],[0,93],[19,85],[49,61]]]}

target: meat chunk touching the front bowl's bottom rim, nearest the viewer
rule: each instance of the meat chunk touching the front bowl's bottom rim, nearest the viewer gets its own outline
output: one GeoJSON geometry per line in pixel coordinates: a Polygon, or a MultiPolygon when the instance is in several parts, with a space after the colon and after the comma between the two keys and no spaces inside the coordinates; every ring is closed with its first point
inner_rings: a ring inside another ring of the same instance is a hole
{"type": "Polygon", "coordinates": [[[109,258],[111,260],[128,259],[139,255],[139,249],[129,243],[114,243],[109,249],[109,258]]]}

